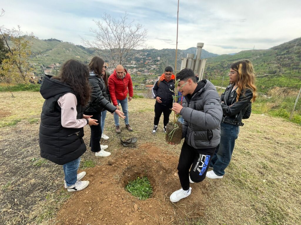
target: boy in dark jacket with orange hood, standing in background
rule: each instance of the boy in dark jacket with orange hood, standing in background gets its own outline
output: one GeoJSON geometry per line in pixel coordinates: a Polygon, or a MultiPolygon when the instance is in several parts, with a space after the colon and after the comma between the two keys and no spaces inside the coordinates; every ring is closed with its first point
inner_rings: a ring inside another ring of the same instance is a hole
{"type": "Polygon", "coordinates": [[[172,102],[174,95],[171,90],[175,89],[175,75],[172,73],[172,67],[165,68],[164,73],[160,76],[152,89],[152,94],[156,99],[155,103],[155,118],[153,134],[156,134],[160,117],[163,113],[163,131],[166,133],[166,125],[169,122],[169,115],[171,113],[172,102]]]}

